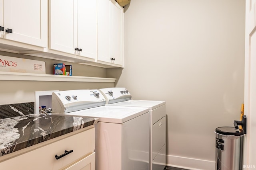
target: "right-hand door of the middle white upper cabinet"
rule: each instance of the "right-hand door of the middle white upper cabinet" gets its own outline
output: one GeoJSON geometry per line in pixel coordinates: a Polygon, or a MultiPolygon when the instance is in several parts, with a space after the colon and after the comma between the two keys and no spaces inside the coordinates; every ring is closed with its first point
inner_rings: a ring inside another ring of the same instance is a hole
{"type": "Polygon", "coordinates": [[[97,1],[77,0],[77,55],[97,58],[97,1]]]}

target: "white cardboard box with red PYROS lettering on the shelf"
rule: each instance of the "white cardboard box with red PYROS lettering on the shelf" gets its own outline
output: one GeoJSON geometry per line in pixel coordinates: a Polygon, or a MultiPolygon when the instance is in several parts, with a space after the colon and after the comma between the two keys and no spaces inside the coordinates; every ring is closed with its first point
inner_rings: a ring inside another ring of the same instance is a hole
{"type": "Polygon", "coordinates": [[[0,71],[46,74],[45,62],[0,55],[0,71]]]}

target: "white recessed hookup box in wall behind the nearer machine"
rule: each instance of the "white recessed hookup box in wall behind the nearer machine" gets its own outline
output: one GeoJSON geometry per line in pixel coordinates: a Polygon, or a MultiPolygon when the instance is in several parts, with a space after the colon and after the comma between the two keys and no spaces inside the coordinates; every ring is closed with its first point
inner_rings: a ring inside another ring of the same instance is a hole
{"type": "Polygon", "coordinates": [[[52,92],[58,92],[60,90],[50,91],[37,91],[35,92],[35,114],[39,113],[39,107],[46,106],[52,108],[52,92]]]}

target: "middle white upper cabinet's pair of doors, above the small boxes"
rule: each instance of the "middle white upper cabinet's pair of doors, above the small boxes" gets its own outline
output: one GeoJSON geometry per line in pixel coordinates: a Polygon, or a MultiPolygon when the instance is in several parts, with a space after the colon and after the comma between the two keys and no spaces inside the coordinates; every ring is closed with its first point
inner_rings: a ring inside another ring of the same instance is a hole
{"type": "Polygon", "coordinates": [[[49,49],[96,59],[96,0],[50,0],[49,49]]]}

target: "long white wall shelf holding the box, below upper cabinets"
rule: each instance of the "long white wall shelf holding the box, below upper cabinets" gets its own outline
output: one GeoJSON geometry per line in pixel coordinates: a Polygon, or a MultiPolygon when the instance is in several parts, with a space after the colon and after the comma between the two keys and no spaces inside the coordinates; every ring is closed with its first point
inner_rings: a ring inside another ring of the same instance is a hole
{"type": "Polygon", "coordinates": [[[50,82],[116,82],[116,78],[62,76],[21,72],[0,72],[0,80],[50,81],[50,82]]]}

